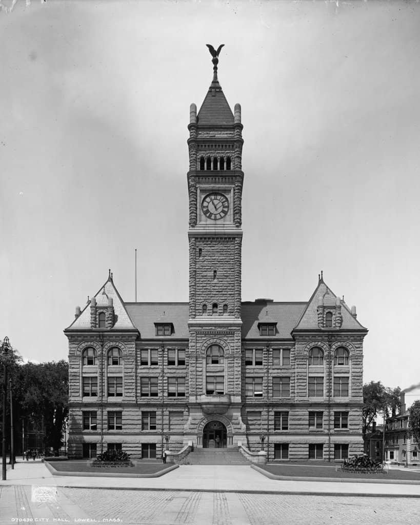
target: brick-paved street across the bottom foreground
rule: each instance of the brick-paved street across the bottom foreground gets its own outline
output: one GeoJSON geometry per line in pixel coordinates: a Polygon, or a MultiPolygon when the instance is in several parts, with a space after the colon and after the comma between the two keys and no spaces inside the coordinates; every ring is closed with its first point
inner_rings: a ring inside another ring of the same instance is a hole
{"type": "Polygon", "coordinates": [[[273,495],[174,490],[0,487],[0,523],[139,525],[417,525],[417,498],[273,495]]]}

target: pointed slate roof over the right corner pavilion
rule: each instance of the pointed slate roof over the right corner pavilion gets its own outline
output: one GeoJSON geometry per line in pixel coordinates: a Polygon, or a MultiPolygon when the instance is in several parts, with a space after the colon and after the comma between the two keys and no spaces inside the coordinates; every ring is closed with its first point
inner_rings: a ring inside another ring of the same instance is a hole
{"type": "MultiPolygon", "coordinates": [[[[318,307],[322,304],[324,306],[333,306],[337,297],[321,278],[294,330],[319,330],[318,307]]],[[[341,301],[341,316],[343,322],[340,330],[367,330],[352,316],[349,307],[344,301],[341,301]]]]}

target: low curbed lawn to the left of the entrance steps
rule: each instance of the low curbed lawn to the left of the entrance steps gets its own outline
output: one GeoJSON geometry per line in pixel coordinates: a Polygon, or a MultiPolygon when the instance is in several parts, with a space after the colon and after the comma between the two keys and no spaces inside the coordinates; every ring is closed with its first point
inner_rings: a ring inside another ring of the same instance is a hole
{"type": "Polygon", "coordinates": [[[48,460],[51,467],[58,472],[90,472],[92,474],[155,474],[171,465],[163,463],[146,463],[145,461],[133,461],[134,467],[92,467],[90,459],[68,459],[67,461],[48,460]]]}

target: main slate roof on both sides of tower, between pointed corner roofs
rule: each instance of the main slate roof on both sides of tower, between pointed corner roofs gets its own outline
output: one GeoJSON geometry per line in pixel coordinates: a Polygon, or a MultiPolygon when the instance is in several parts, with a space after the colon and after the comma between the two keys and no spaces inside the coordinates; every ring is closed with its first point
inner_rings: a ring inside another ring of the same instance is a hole
{"type": "MultiPolygon", "coordinates": [[[[258,339],[258,322],[269,318],[277,322],[277,333],[270,339],[290,339],[290,332],[306,305],[306,302],[245,302],[242,304],[242,337],[258,339]]],[[[156,336],[155,322],[173,323],[174,332],[168,339],[189,337],[187,302],[131,302],[124,306],[142,339],[162,339],[162,335],[156,336]]]]}

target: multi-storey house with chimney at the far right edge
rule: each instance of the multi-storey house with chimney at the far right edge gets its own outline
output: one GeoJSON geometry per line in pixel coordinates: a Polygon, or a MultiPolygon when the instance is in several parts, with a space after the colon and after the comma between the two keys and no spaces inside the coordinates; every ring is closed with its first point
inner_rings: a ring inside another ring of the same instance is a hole
{"type": "Polygon", "coordinates": [[[385,422],[385,460],[391,463],[419,465],[419,443],[409,429],[405,395],[405,392],[401,393],[400,414],[388,417],[385,422]]]}

